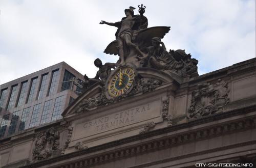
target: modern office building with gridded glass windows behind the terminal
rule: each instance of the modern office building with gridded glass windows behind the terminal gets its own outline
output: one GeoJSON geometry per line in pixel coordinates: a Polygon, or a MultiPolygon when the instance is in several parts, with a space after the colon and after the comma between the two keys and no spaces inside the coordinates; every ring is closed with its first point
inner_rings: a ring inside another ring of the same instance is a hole
{"type": "Polygon", "coordinates": [[[65,62],[0,86],[0,138],[61,119],[83,75],[65,62]]]}

